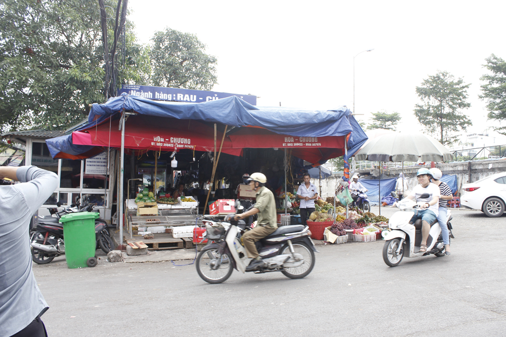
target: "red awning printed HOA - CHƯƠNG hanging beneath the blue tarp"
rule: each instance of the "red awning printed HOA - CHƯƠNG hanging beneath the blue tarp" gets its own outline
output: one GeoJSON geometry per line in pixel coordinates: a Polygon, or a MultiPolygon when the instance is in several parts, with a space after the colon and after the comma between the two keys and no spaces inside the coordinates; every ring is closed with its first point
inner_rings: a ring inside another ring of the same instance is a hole
{"type": "MultiPolygon", "coordinates": [[[[97,127],[72,133],[76,145],[121,146],[118,119],[97,127]]],[[[218,131],[216,148],[220,148],[223,131],[218,131]]],[[[344,154],[344,136],[295,137],[280,135],[263,128],[236,128],[225,137],[222,152],[241,155],[243,148],[287,148],[293,156],[316,163],[344,154]]],[[[124,147],[134,150],[195,149],[214,151],[213,124],[196,120],[130,116],[125,122],[124,147]]]]}

